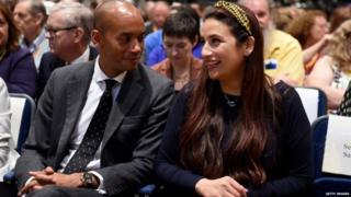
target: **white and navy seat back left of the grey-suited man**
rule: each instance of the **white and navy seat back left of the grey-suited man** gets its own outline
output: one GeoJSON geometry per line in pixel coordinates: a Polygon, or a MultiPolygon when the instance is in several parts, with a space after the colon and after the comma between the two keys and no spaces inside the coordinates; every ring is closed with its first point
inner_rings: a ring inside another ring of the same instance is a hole
{"type": "Polygon", "coordinates": [[[11,134],[16,144],[16,151],[21,152],[35,113],[35,103],[33,99],[26,94],[10,93],[11,104],[11,134]]]}

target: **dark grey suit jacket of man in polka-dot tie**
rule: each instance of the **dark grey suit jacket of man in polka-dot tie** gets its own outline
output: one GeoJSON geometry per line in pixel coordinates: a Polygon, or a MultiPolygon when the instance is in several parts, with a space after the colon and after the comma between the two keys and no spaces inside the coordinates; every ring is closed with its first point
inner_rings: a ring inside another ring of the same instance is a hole
{"type": "MultiPolygon", "coordinates": [[[[20,188],[30,177],[29,171],[58,170],[84,106],[93,68],[94,61],[89,61],[52,73],[15,166],[20,188]]],[[[103,136],[101,169],[95,170],[109,195],[149,183],[173,95],[172,82],[144,66],[125,76],[103,136]]]]}

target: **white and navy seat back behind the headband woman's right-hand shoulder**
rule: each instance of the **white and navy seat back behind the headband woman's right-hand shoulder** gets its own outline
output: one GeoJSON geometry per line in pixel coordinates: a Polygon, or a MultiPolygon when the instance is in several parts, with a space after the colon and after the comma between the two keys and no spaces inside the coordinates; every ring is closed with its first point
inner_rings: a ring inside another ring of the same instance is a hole
{"type": "Polygon", "coordinates": [[[327,114],[327,96],[321,90],[302,86],[296,86],[295,90],[299,95],[310,124],[317,117],[327,114]]]}

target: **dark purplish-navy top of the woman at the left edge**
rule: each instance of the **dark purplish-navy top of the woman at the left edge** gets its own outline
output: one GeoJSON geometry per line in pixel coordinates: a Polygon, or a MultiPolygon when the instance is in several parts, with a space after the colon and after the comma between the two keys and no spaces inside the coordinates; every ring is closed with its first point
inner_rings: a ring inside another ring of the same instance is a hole
{"type": "Polygon", "coordinates": [[[19,47],[0,60],[0,78],[10,93],[24,93],[33,99],[36,93],[36,68],[30,50],[19,47]]]}

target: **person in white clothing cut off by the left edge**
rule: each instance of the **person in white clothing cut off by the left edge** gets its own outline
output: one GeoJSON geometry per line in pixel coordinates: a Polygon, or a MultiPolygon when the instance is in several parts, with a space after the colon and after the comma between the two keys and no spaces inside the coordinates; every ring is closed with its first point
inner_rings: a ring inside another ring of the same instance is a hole
{"type": "Polygon", "coordinates": [[[19,158],[11,137],[11,109],[8,89],[0,78],[0,196],[15,196],[15,188],[4,184],[2,177],[10,172],[19,158]]]}

